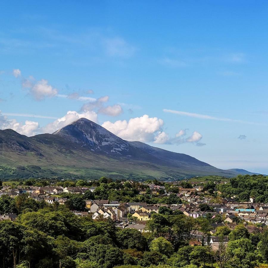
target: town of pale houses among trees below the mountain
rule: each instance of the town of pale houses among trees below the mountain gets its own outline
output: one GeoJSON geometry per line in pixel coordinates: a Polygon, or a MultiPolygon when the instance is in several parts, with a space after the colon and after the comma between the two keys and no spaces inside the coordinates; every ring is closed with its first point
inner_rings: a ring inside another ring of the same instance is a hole
{"type": "MultiPolygon", "coordinates": [[[[27,180],[25,183],[27,184],[27,180]]],[[[34,186],[40,184],[35,180],[31,181],[32,186],[18,185],[13,188],[14,184],[3,185],[0,200],[24,196],[47,205],[65,205],[77,216],[91,217],[93,220],[110,219],[120,229],[136,229],[141,233],[150,232],[147,223],[153,219],[154,214],[185,215],[194,219],[201,217],[208,219],[210,235],[200,230],[191,230],[191,239],[188,243],[192,246],[212,245],[217,250],[220,244],[220,237],[217,236],[220,227],[224,227],[225,230],[223,243],[228,243],[226,234],[237,226],[243,225],[248,233],[257,235],[263,233],[268,225],[268,203],[256,202],[254,196],[244,202],[237,201],[235,195],[221,197],[219,186],[228,183],[229,179],[213,180],[213,176],[207,181],[195,179],[195,181],[174,182],[156,180],[154,182],[132,180],[114,182],[102,177],[98,181],[65,180],[51,182],[46,186],[34,186]],[[87,184],[95,186],[86,186],[87,184]],[[107,190],[105,188],[109,188],[110,198],[94,199],[95,196],[105,196],[107,190]],[[141,200],[141,202],[128,202],[126,196],[123,202],[120,197],[117,199],[116,195],[113,196],[113,192],[127,193],[130,190],[133,197],[129,199],[141,200]]],[[[0,220],[16,221],[18,216],[16,211],[6,211],[9,212],[6,213],[3,211],[3,206],[1,207],[2,203],[3,201],[0,201],[0,211],[2,210],[0,220]]]]}

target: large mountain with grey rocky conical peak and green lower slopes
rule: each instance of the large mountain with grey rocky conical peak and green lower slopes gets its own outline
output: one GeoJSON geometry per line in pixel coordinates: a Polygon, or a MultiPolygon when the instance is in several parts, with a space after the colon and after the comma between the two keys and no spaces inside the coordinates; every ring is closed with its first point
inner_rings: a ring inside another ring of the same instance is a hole
{"type": "MultiPolygon", "coordinates": [[[[220,175],[217,169],[186,154],[169,152],[138,141],[125,141],[100,125],[81,118],[53,134],[27,137],[0,130],[0,176],[76,175],[87,178],[165,178],[220,175]]],[[[0,177],[0,178],[1,178],[0,177]]]]}

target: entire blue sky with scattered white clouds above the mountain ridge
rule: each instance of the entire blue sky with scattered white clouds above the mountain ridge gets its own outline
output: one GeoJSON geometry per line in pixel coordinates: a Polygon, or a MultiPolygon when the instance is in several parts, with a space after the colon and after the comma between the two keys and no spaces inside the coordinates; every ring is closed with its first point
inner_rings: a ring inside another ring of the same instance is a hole
{"type": "Polygon", "coordinates": [[[268,174],[267,1],[0,4],[0,128],[86,117],[128,140],[268,174]]]}

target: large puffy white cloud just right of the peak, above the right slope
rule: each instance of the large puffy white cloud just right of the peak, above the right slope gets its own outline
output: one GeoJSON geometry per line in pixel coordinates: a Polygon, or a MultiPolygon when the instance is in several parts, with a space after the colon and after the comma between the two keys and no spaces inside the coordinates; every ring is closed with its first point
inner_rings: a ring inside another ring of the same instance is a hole
{"type": "Polygon", "coordinates": [[[161,130],[164,121],[157,117],[144,115],[127,120],[118,120],[114,123],[106,121],[102,127],[127,141],[155,141],[156,133],[161,130]]]}

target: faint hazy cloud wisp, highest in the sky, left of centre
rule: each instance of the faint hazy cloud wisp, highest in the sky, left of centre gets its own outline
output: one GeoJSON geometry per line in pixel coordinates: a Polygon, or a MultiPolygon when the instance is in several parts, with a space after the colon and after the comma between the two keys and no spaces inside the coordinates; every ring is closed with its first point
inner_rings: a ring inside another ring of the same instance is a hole
{"type": "Polygon", "coordinates": [[[135,47],[128,44],[123,38],[107,38],[104,41],[105,50],[111,57],[131,57],[135,47]]]}

